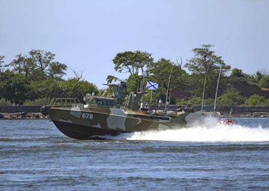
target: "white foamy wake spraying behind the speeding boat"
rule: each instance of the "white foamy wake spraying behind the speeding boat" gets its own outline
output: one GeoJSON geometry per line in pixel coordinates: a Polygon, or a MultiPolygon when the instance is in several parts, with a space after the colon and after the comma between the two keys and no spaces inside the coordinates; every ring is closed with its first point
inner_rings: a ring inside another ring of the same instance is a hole
{"type": "Polygon", "coordinates": [[[203,124],[189,128],[163,131],[144,131],[107,137],[116,140],[148,140],[178,142],[265,142],[269,141],[269,128],[224,125],[208,118],[203,124]]]}

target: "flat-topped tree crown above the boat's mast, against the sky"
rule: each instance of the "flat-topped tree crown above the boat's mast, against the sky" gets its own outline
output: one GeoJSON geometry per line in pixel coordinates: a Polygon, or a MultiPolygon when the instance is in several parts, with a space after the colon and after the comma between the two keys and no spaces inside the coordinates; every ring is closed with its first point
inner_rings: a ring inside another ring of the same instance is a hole
{"type": "Polygon", "coordinates": [[[152,54],[148,52],[125,51],[119,52],[112,59],[116,72],[129,72],[130,74],[145,71],[145,68],[153,62],[152,54]]]}

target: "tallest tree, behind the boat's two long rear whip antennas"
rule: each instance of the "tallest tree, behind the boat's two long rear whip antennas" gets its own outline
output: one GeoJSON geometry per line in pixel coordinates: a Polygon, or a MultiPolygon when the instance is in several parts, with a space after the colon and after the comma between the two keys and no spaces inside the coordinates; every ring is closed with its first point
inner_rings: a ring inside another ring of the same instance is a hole
{"type": "MultiPolygon", "coordinates": [[[[196,87],[194,94],[197,96],[202,95],[202,87],[204,78],[207,73],[205,97],[213,98],[216,92],[216,86],[219,76],[220,67],[222,67],[221,81],[224,79],[226,72],[230,70],[230,66],[226,65],[221,56],[215,55],[215,52],[210,50],[212,45],[202,45],[201,48],[194,48],[194,57],[187,60],[184,65],[190,72],[193,79],[192,86],[196,87]]],[[[221,86],[220,86],[221,87],[221,86]]]]}

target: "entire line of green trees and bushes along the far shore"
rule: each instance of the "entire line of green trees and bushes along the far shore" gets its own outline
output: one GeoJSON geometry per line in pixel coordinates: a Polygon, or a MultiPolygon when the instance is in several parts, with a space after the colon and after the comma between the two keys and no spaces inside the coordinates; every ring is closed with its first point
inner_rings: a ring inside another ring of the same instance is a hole
{"type": "MultiPolygon", "coordinates": [[[[244,82],[261,88],[269,88],[269,74],[260,70],[254,74],[243,73],[240,69],[232,69],[224,63],[221,56],[215,55],[212,45],[202,45],[194,48],[194,56],[186,60],[172,62],[161,58],[154,61],[151,53],[145,51],[119,52],[112,59],[116,72],[128,72],[126,79],[128,95],[137,90],[138,72],[147,74],[146,80],[157,82],[159,87],[153,91],[153,100],[165,100],[167,89],[170,93],[178,91],[179,97],[171,94],[171,104],[201,104],[202,89],[206,78],[205,104],[214,103],[218,76],[221,78],[218,92],[218,105],[268,105],[269,99],[262,95],[246,97],[237,90],[236,83],[244,82]],[[173,67],[173,69],[172,69],[173,67]],[[187,69],[190,73],[186,72],[187,69]],[[169,88],[168,78],[171,72],[169,88]]],[[[55,54],[43,50],[31,50],[28,55],[19,54],[9,64],[3,65],[4,56],[0,56],[0,105],[46,104],[54,97],[78,97],[82,99],[86,93],[94,92],[97,95],[112,96],[114,87],[98,90],[97,87],[81,80],[82,73],[73,71],[75,77],[63,79],[67,65],[54,60],[55,54]]],[[[116,83],[119,79],[109,75],[108,83],[116,83]]],[[[244,84],[243,83],[243,84],[244,84]]],[[[150,100],[150,91],[143,95],[144,100],[150,100]]]]}

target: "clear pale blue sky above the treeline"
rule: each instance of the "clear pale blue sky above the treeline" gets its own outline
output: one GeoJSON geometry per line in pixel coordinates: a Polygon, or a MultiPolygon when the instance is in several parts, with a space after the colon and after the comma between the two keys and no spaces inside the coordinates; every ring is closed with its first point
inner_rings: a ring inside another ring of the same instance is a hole
{"type": "Polygon", "coordinates": [[[128,77],[114,71],[118,52],[184,64],[193,48],[211,44],[226,64],[252,74],[269,69],[268,10],[269,0],[0,0],[0,55],[8,64],[31,49],[50,51],[104,88],[107,75],[128,77]]]}

